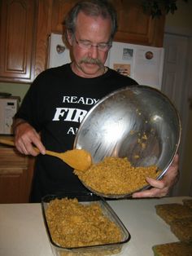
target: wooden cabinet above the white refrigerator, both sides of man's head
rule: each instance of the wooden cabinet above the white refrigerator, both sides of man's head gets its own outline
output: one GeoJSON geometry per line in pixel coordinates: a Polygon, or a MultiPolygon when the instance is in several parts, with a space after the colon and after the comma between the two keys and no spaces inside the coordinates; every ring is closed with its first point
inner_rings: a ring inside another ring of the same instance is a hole
{"type": "MultiPolygon", "coordinates": [[[[63,33],[63,19],[76,0],[53,0],[51,31],[63,33]]],[[[111,0],[116,7],[117,42],[129,42],[147,46],[163,46],[165,17],[152,19],[142,10],[142,0],[111,0]]]]}

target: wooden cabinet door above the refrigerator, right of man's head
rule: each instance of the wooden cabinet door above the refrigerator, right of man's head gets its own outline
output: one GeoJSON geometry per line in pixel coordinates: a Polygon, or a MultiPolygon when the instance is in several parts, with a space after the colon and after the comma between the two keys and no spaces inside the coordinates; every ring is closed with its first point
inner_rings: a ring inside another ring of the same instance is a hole
{"type": "Polygon", "coordinates": [[[163,46],[165,17],[152,19],[142,10],[141,0],[112,0],[118,15],[115,41],[163,46]]]}

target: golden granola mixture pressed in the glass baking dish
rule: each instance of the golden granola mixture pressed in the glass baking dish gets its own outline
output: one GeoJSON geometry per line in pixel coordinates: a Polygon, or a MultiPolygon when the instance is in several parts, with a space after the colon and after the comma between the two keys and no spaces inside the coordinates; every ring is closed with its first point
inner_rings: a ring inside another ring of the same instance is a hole
{"type": "Polygon", "coordinates": [[[63,247],[104,245],[122,239],[120,228],[104,216],[97,202],[81,204],[77,199],[55,199],[46,209],[50,234],[63,247]]]}

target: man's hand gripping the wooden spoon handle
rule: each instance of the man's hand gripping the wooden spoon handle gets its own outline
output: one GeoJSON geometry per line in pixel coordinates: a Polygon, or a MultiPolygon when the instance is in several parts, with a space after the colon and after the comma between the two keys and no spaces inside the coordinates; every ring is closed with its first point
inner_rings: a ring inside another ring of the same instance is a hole
{"type": "Polygon", "coordinates": [[[46,153],[46,148],[41,143],[40,135],[30,126],[27,121],[15,121],[15,146],[24,155],[32,155],[36,157],[39,152],[46,153]],[[37,152],[33,146],[39,149],[37,152]]]}

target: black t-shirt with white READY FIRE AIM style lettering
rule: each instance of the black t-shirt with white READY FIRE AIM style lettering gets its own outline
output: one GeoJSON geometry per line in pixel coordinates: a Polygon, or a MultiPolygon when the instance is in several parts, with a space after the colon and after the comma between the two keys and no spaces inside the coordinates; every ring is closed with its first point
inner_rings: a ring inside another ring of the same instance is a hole
{"type": "MultiPolygon", "coordinates": [[[[76,131],[90,108],[113,90],[137,84],[112,69],[94,78],[78,77],[70,64],[42,72],[30,86],[15,117],[28,121],[46,149],[73,148],[76,131]]],[[[37,157],[31,201],[50,193],[86,191],[73,170],[56,157],[37,157]]]]}

